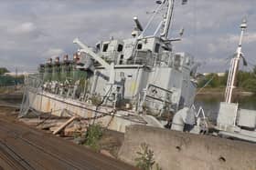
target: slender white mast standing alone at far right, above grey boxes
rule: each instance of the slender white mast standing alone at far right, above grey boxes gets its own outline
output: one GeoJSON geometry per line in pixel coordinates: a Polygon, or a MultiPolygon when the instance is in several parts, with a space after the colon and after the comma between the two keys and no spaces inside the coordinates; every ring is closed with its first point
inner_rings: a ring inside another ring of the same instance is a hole
{"type": "Polygon", "coordinates": [[[240,28],[241,28],[240,42],[237,48],[236,57],[232,58],[230,62],[229,76],[228,76],[226,92],[225,92],[225,102],[229,104],[232,101],[232,93],[235,88],[235,80],[239,70],[240,58],[242,57],[241,42],[242,42],[242,37],[246,27],[247,27],[246,20],[243,20],[242,24],[240,25],[240,28]]]}

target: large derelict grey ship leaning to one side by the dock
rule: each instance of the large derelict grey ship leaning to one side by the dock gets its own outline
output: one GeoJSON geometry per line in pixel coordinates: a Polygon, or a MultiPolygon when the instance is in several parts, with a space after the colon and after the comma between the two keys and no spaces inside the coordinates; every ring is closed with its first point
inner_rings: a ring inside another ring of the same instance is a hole
{"type": "Polygon", "coordinates": [[[192,125],[194,133],[205,132],[206,117],[193,109],[199,64],[194,56],[173,49],[184,29],[175,37],[169,34],[175,1],[156,5],[147,25],[133,17],[130,38],[112,37],[95,46],[75,38],[78,51],[72,58],[64,55],[61,61],[57,56],[39,65],[38,74],[26,77],[19,116],[78,116],[125,132],[127,125],[171,128],[174,115],[186,110],[188,129],[192,125]]]}

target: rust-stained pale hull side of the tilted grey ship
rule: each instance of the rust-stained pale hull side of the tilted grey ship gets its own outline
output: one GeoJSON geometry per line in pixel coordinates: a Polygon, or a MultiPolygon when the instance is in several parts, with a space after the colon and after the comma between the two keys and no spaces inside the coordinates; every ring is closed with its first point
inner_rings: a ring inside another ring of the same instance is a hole
{"type": "Polygon", "coordinates": [[[99,123],[108,129],[125,132],[127,125],[146,124],[140,116],[128,111],[114,111],[111,107],[98,107],[88,105],[77,100],[52,95],[47,92],[28,92],[30,108],[37,112],[48,113],[57,116],[76,115],[88,119],[89,123],[99,123]],[[96,111],[97,110],[97,111],[96,111]]]}

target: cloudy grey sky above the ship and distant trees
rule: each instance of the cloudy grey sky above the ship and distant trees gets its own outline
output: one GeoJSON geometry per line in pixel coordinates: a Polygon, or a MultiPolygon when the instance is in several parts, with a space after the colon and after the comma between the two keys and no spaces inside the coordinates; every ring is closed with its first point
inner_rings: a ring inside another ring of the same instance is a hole
{"type": "MultiPolygon", "coordinates": [[[[0,66],[18,72],[37,71],[53,56],[72,55],[76,37],[94,46],[100,40],[129,38],[133,16],[146,25],[155,0],[0,0],[0,66]]],[[[199,71],[224,72],[236,51],[240,23],[246,17],[242,52],[256,65],[255,0],[176,0],[170,37],[185,29],[175,52],[187,52],[201,63],[199,71]]]]}

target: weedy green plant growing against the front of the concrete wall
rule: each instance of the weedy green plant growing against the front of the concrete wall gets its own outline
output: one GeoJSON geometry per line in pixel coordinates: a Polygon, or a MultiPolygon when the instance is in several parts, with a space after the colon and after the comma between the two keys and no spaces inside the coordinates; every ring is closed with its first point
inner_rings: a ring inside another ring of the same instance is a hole
{"type": "MultiPolygon", "coordinates": [[[[141,151],[137,152],[138,157],[135,158],[136,167],[141,170],[153,170],[155,165],[154,152],[149,149],[145,143],[141,144],[141,151]]],[[[158,164],[155,165],[156,170],[161,170],[158,164]]]]}

